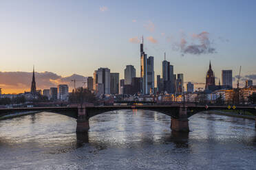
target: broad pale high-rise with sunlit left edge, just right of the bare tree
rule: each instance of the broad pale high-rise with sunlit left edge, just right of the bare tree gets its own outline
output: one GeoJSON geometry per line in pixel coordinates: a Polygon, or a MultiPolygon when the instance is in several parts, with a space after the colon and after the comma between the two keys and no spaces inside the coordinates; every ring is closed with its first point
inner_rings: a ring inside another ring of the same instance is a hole
{"type": "Polygon", "coordinates": [[[99,95],[110,94],[110,69],[100,68],[94,71],[94,90],[99,95]]]}

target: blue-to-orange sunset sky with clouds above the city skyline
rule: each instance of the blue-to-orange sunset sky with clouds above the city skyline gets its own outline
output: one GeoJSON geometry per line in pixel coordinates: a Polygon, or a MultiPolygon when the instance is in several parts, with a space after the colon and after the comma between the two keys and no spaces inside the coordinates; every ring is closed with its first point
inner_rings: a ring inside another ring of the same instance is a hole
{"type": "MultiPolygon", "coordinates": [[[[204,86],[211,60],[221,79],[242,66],[242,80],[256,81],[256,1],[0,1],[0,88],[29,90],[33,64],[37,88],[84,81],[107,67],[140,75],[140,45],[161,74],[164,52],[184,82],[204,86]]],[[[236,83],[235,81],[233,82],[236,83]]]]}

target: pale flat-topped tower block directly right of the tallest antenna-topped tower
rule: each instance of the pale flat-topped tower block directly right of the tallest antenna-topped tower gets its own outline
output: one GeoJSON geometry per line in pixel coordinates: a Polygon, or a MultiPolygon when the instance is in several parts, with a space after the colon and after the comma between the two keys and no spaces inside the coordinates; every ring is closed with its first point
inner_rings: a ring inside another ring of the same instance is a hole
{"type": "Polygon", "coordinates": [[[153,56],[147,59],[147,93],[154,93],[155,72],[153,68],[153,56]]]}

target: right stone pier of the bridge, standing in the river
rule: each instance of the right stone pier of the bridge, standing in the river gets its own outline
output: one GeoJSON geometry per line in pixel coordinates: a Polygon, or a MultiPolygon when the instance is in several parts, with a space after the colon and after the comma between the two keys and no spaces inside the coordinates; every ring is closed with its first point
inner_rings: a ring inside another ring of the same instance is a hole
{"type": "Polygon", "coordinates": [[[171,117],[171,130],[176,132],[189,132],[189,119],[186,115],[186,107],[180,107],[178,119],[171,117]]]}

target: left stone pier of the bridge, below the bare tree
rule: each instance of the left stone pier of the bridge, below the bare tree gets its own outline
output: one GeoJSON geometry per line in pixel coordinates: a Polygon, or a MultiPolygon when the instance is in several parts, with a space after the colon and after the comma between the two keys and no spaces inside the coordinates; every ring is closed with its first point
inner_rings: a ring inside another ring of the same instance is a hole
{"type": "Polygon", "coordinates": [[[86,108],[78,108],[78,118],[76,120],[76,133],[85,133],[89,130],[89,118],[86,114],[86,108]]]}

